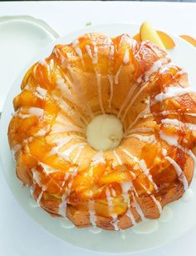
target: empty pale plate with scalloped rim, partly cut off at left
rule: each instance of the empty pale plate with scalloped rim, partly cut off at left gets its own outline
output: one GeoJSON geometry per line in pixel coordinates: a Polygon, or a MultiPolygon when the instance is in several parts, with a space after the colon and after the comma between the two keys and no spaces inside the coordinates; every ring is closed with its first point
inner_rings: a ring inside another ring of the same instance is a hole
{"type": "Polygon", "coordinates": [[[40,19],[30,16],[0,18],[0,113],[12,83],[29,59],[48,43],[59,38],[58,34],[40,19]]]}

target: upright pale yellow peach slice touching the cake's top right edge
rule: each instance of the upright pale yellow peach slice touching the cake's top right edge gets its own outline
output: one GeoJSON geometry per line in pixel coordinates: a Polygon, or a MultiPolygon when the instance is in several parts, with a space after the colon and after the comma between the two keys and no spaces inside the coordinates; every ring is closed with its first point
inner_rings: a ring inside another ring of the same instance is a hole
{"type": "Polygon", "coordinates": [[[157,44],[160,48],[166,50],[164,43],[159,38],[158,33],[152,28],[148,22],[142,23],[140,27],[140,38],[142,41],[149,40],[152,43],[157,44]]]}

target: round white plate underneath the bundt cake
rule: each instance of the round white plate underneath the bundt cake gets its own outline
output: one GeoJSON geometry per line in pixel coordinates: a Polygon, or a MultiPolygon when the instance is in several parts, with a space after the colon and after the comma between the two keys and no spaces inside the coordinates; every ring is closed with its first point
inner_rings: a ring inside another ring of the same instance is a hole
{"type": "MultiPolygon", "coordinates": [[[[170,216],[168,222],[150,221],[149,225],[154,228],[153,233],[134,233],[132,229],[127,229],[125,232],[110,232],[101,231],[100,233],[91,233],[91,228],[71,228],[71,223],[66,221],[62,224],[61,218],[51,218],[41,208],[33,208],[32,200],[28,188],[23,188],[22,184],[17,180],[15,174],[15,163],[12,161],[12,155],[7,143],[7,126],[12,114],[12,98],[20,92],[20,83],[23,75],[27,69],[37,60],[47,57],[51,53],[51,49],[56,43],[71,43],[79,35],[88,32],[106,33],[110,36],[119,35],[121,33],[129,33],[134,35],[139,31],[138,25],[133,24],[110,24],[100,25],[96,27],[87,27],[80,31],[66,35],[59,38],[55,43],[45,48],[37,58],[34,58],[27,68],[23,70],[17,81],[13,84],[11,92],[7,96],[6,103],[2,112],[2,121],[0,123],[0,157],[2,159],[2,168],[4,170],[7,183],[12,190],[17,202],[20,203],[22,208],[40,225],[45,228],[49,233],[57,238],[61,238],[68,243],[75,246],[90,249],[99,252],[110,253],[135,253],[142,250],[147,250],[178,238],[180,235],[186,233],[190,228],[196,224],[196,200],[188,200],[184,203],[183,200],[171,203],[169,208],[173,211],[173,217],[170,216]],[[64,228],[62,228],[64,225],[64,228]],[[159,226],[159,228],[157,228],[159,226]]],[[[185,43],[184,40],[172,36],[176,43],[176,48],[172,50],[171,56],[175,63],[178,63],[189,72],[189,78],[192,85],[196,84],[196,76],[194,71],[194,61],[196,59],[195,49],[185,43]]],[[[196,194],[195,180],[191,186],[192,191],[196,194]]]]}

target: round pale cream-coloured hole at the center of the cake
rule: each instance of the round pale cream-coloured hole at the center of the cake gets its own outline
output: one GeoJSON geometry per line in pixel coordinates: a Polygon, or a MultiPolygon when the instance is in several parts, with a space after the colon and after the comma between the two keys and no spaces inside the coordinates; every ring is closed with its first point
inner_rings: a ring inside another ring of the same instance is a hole
{"type": "Polygon", "coordinates": [[[107,150],[119,146],[123,138],[123,125],[113,114],[100,114],[86,128],[86,139],[92,148],[107,150]]]}

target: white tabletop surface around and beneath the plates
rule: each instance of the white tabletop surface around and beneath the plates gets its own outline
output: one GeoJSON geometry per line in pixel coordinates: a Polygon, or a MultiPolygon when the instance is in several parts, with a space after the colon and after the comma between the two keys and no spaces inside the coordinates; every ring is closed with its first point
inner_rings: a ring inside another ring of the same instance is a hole
{"type": "MultiPolygon", "coordinates": [[[[52,28],[55,28],[60,35],[69,33],[73,29],[84,27],[90,21],[92,24],[97,24],[114,22],[142,23],[145,20],[149,20],[161,30],[196,36],[196,3],[74,3],[57,1],[0,3],[0,16],[6,15],[31,15],[35,18],[42,18],[52,28]]],[[[100,254],[73,247],[46,233],[18,206],[7,188],[1,170],[0,180],[1,256],[90,256],[100,254]]],[[[186,216],[184,216],[184,221],[186,221],[186,216]]],[[[184,256],[184,254],[186,256],[194,256],[196,254],[196,227],[182,238],[166,244],[162,248],[137,255],[184,256]]],[[[103,253],[103,255],[106,255],[106,253],[103,253]]]]}

